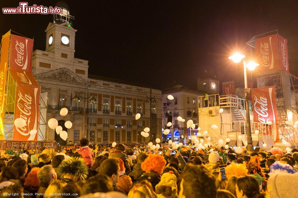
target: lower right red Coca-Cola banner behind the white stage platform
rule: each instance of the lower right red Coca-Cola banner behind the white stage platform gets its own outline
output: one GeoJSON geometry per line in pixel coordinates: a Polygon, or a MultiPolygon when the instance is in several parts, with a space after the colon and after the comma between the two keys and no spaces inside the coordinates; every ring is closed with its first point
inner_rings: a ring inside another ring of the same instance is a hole
{"type": "MultiPolygon", "coordinates": [[[[254,122],[273,124],[277,121],[277,108],[274,86],[252,89],[252,105],[254,122]]],[[[264,134],[269,135],[269,134],[264,134]]],[[[270,131],[272,135],[272,131],[270,131]]]]}

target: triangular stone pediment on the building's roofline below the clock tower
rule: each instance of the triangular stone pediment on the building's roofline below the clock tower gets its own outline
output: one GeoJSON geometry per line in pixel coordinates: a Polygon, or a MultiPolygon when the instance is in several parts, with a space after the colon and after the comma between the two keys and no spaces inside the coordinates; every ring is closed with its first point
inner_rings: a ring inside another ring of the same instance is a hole
{"type": "Polygon", "coordinates": [[[67,68],[55,69],[53,71],[44,72],[35,76],[36,78],[57,80],[59,82],[76,83],[80,85],[90,85],[86,80],[76,75],[67,68]]]}

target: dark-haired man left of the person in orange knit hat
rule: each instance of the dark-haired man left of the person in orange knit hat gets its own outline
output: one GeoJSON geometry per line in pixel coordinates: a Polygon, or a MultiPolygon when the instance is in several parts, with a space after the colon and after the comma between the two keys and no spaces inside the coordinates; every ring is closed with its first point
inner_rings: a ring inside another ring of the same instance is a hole
{"type": "Polygon", "coordinates": [[[120,176],[120,162],[118,159],[106,159],[100,164],[100,167],[96,171],[100,174],[108,175],[113,181],[113,188],[115,191],[119,191],[116,183],[120,176]]]}

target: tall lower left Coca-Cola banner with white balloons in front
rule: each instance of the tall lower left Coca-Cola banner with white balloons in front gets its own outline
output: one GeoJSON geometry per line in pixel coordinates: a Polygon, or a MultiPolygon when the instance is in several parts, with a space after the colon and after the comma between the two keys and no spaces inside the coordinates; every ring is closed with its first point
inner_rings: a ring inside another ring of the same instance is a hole
{"type": "Polygon", "coordinates": [[[23,118],[27,124],[23,128],[13,125],[13,140],[37,140],[38,134],[30,131],[38,131],[40,91],[40,86],[17,84],[14,119],[23,118]]]}

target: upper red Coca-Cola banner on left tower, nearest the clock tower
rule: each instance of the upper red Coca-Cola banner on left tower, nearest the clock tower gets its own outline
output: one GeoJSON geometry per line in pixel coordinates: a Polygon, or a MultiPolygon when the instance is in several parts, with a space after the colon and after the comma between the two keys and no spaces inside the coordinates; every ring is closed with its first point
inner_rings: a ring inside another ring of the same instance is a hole
{"type": "Polygon", "coordinates": [[[9,67],[31,72],[33,39],[11,34],[9,67]]]}

